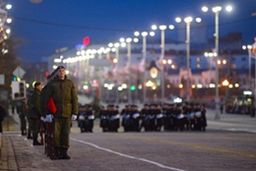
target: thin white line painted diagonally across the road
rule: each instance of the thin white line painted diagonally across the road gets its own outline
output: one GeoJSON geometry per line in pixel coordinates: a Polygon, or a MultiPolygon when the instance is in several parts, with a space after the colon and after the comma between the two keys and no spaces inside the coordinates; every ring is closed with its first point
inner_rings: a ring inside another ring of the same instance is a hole
{"type": "Polygon", "coordinates": [[[130,158],[130,159],[140,160],[140,161],[143,161],[143,162],[146,162],[146,163],[150,163],[150,164],[156,165],[160,168],[164,168],[164,169],[168,169],[168,170],[172,170],[172,171],[186,171],[186,170],[182,170],[182,169],[177,169],[177,168],[165,166],[161,163],[154,162],[154,161],[151,161],[151,160],[147,160],[147,159],[144,159],[144,158],[138,158],[138,157],[134,157],[134,156],[131,156],[131,155],[116,152],[116,151],[113,151],[113,150],[110,150],[110,149],[106,149],[106,148],[103,148],[103,147],[99,147],[99,146],[97,146],[93,143],[89,143],[89,142],[86,142],[86,141],[82,141],[82,140],[78,140],[78,139],[74,139],[74,138],[70,138],[70,139],[73,140],[73,141],[82,143],[82,144],[87,144],[87,145],[93,146],[94,148],[99,149],[99,150],[108,151],[110,153],[114,153],[114,154],[117,154],[117,155],[120,155],[120,156],[123,156],[123,157],[127,157],[127,158],[130,158]]]}

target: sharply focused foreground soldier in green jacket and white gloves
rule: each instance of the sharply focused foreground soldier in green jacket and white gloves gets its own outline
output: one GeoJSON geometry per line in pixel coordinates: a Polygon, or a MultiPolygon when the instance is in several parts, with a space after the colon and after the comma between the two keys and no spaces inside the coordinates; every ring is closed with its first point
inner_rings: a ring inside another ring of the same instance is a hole
{"type": "Polygon", "coordinates": [[[70,147],[70,122],[77,118],[78,98],[73,82],[66,76],[65,67],[58,66],[56,73],[56,78],[48,85],[44,102],[47,104],[51,97],[57,108],[54,113],[54,159],[70,159],[67,154],[70,147]]]}

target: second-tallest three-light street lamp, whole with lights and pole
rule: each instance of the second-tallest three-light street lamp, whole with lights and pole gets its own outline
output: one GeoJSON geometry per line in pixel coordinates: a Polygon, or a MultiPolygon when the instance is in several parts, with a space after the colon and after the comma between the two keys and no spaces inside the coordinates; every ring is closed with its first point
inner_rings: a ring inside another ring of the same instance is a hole
{"type": "MultiPolygon", "coordinates": [[[[181,22],[182,19],[180,17],[177,17],[175,19],[176,22],[181,22]]],[[[186,100],[190,100],[190,93],[189,93],[189,88],[190,88],[190,83],[189,83],[189,71],[190,71],[190,24],[193,21],[193,18],[188,16],[184,18],[184,21],[186,22],[186,74],[187,74],[187,79],[186,79],[186,100]]],[[[196,18],[196,22],[201,22],[201,18],[196,18]]]]}

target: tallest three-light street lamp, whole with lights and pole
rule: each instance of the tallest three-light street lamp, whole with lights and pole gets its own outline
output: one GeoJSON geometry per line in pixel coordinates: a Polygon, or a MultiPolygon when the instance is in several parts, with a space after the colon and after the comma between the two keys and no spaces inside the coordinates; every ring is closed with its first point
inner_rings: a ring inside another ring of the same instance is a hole
{"type": "MultiPolygon", "coordinates": [[[[211,10],[215,14],[215,34],[214,34],[214,36],[215,36],[215,53],[216,53],[216,61],[218,61],[219,60],[219,12],[222,10],[222,7],[221,6],[214,6],[214,7],[212,7],[211,10]]],[[[231,12],[232,7],[230,5],[226,6],[226,10],[228,12],[231,12]]],[[[207,12],[208,7],[203,6],[202,11],[207,12]]],[[[219,109],[220,109],[220,104],[219,104],[219,68],[218,68],[217,65],[216,65],[215,77],[216,77],[216,80],[215,80],[215,91],[216,91],[215,92],[216,93],[216,96],[215,96],[215,109],[216,109],[215,120],[220,120],[220,112],[219,112],[219,109]]]]}

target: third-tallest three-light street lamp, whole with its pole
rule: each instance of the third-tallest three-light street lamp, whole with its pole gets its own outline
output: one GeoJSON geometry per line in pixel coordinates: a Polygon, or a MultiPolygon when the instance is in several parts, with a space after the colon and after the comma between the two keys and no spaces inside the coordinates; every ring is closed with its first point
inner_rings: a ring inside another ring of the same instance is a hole
{"type": "MultiPolygon", "coordinates": [[[[156,25],[152,25],[151,26],[152,30],[156,30],[157,26],[156,25]]],[[[160,25],[159,29],[161,30],[161,58],[160,61],[162,63],[163,59],[164,59],[164,52],[165,52],[165,43],[164,43],[164,31],[166,30],[167,26],[166,25],[160,25]]],[[[169,28],[171,30],[174,29],[174,25],[169,25],[169,28]]],[[[161,87],[161,94],[162,94],[162,101],[164,101],[165,98],[165,78],[164,78],[164,67],[162,67],[162,87],[161,87]]]]}

